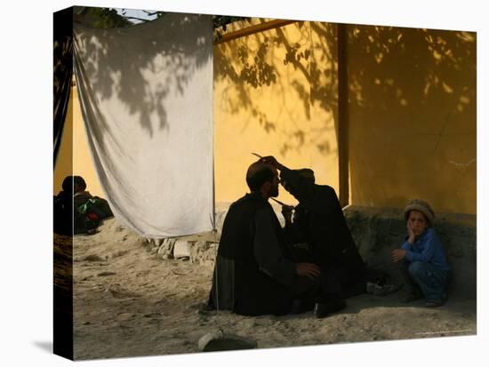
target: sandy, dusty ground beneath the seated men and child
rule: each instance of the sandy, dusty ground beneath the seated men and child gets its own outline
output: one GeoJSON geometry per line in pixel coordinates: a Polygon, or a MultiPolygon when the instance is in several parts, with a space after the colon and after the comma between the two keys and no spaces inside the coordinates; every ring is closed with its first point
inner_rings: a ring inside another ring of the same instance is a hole
{"type": "MultiPolygon", "coordinates": [[[[56,236],[55,236],[56,239],[56,236]]],[[[212,267],[157,259],[151,245],[108,220],[74,239],[75,358],[199,352],[198,339],[220,327],[258,347],[293,347],[476,334],[476,301],[449,299],[426,308],[363,294],[325,319],[302,315],[247,317],[201,310],[212,267]]]]}

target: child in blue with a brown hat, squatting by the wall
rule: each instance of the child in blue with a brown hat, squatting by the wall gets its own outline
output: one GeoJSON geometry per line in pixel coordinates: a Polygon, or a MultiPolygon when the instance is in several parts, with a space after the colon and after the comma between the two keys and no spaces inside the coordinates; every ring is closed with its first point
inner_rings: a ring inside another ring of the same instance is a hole
{"type": "Polygon", "coordinates": [[[445,302],[450,266],[437,232],[433,229],[435,213],[429,203],[413,200],[404,210],[407,236],[400,249],[392,252],[392,260],[401,262],[407,290],[403,302],[426,298],[426,307],[445,302]]]}

